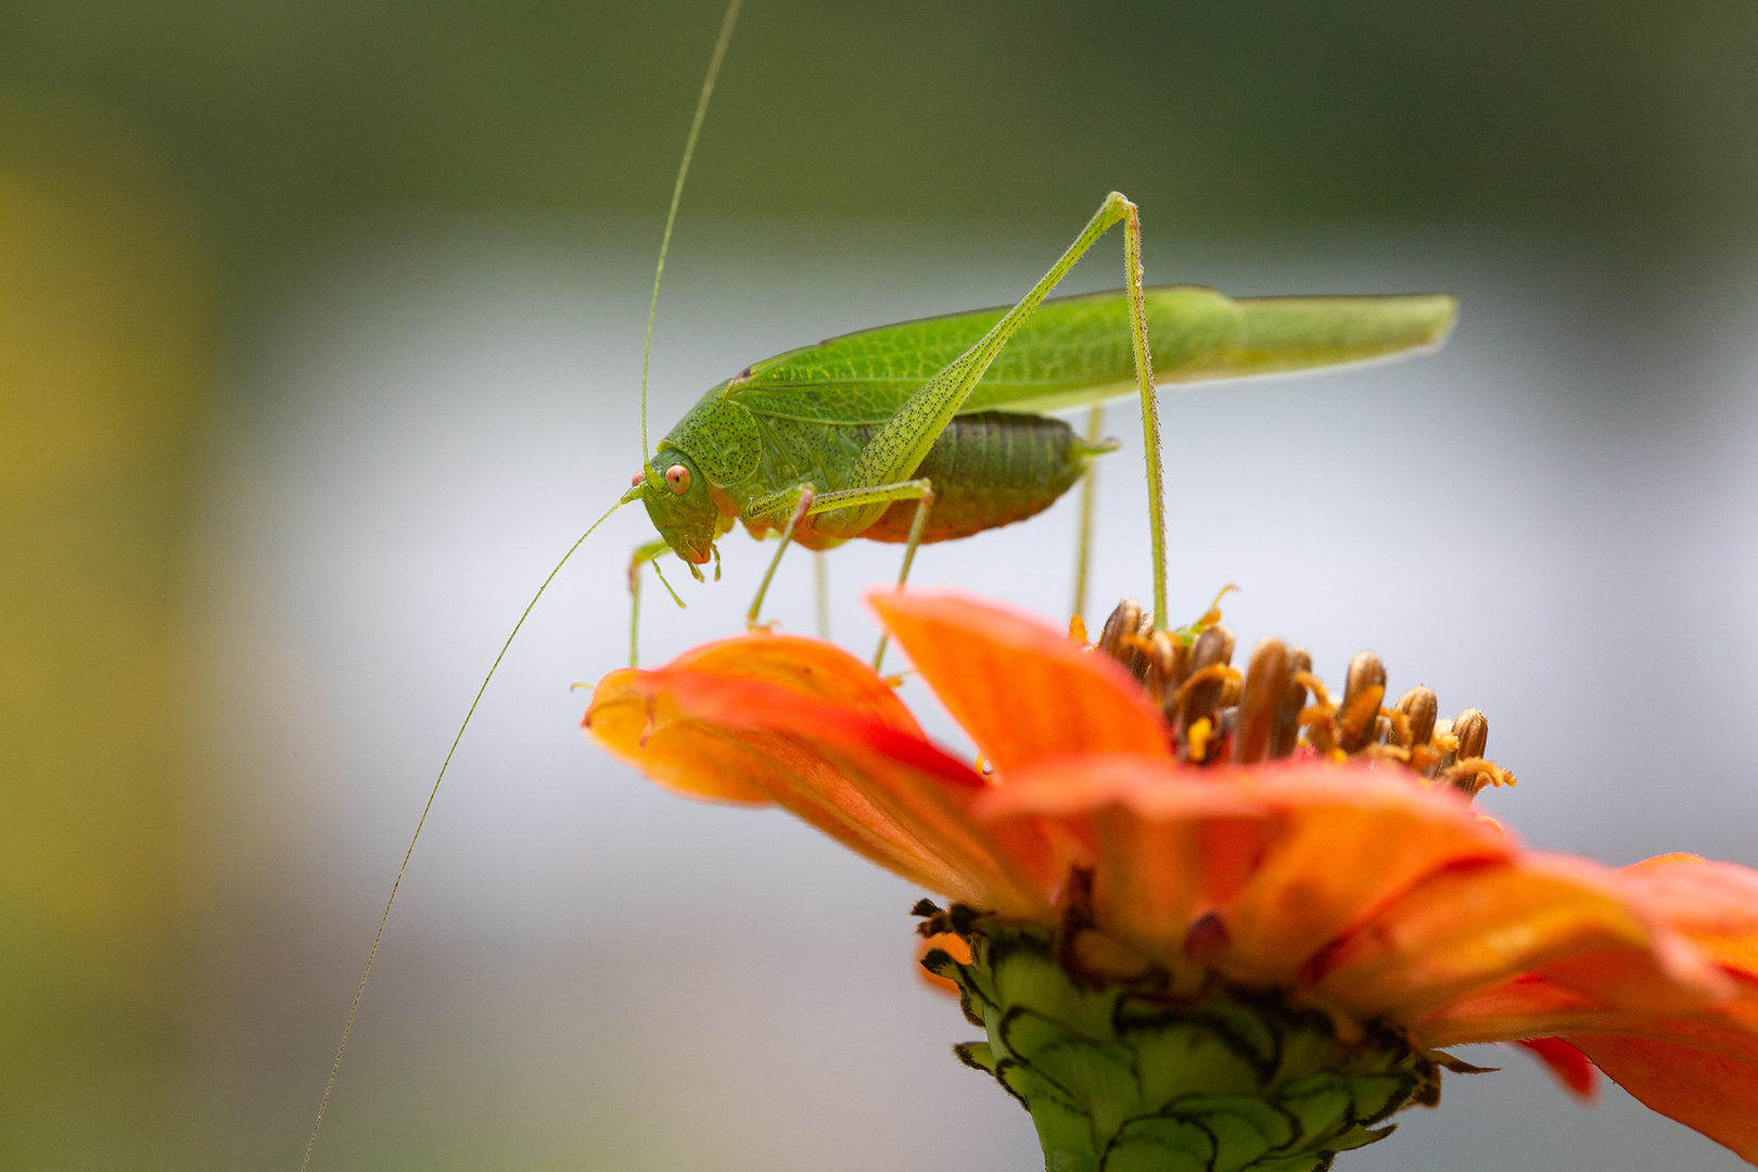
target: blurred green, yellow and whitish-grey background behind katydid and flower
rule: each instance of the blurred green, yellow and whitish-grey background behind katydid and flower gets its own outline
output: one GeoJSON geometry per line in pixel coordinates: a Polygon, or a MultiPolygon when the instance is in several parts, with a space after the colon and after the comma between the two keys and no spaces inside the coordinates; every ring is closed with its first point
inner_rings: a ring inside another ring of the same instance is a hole
{"type": "MultiPolygon", "coordinates": [[[[717,0],[0,4],[0,1165],[292,1168],[482,671],[640,457],[717,0]]],[[[1153,281],[1463,297],[1435,357],[1166,395],[1173,597],[1489,713],[1484,805],[1758,865],[1758,9],[751,0],[652,425],[747,362],[1009,302],[1111,188],[1153,281]]],[[[1116,244],[1069,288],[1118,283],[1116,244]]],[[[1137,422],[1097,596],[1146,594],[1137,422]]],[[[1074,518],[935,546],[1065,613],[1074,518]]],[[[316,1168],[1035,1167],[911,970],[916,891],[577,731],[619,513],[403,886],[316,1168]]],[[[763,550],[649,590],[738,629],[763,550]]],[[[830,559],[835,636],[893,546],[830,559]]],[[[772,613],[810,629],[810,561],[772,613]]],[[[932,699],[909,685],[912,703],[932,699]]],[[[958,733],[933,719],[951,743],[958,733]]],[[[1357,1168],[1733,1168],[1521,1054],[1357,1168]]]]}

